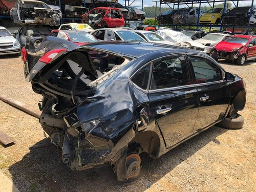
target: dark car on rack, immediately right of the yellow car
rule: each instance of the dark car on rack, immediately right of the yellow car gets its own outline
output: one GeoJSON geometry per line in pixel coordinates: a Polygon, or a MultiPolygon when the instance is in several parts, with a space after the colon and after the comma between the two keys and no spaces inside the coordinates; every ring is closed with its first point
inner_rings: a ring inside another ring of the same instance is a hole
{"type": "Polygon", "coordinates": [[[256,26],[256,8],[251,7],[235,7],[227,14],[223,14],[221,24],[222,25],[253,25],[256,26]],[[251,17],[250,17],[251,14],[251,17]]]}

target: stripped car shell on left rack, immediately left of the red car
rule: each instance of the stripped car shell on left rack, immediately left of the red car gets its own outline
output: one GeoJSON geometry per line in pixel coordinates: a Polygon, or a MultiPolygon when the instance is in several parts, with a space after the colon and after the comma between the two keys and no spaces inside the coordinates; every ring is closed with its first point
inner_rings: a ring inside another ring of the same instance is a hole
{"type": "Polygon", "coordinates": [[[89,9],[79,4],[65,5],[65,17],[81,17],[83,14],[89,12],[89,9]]]}

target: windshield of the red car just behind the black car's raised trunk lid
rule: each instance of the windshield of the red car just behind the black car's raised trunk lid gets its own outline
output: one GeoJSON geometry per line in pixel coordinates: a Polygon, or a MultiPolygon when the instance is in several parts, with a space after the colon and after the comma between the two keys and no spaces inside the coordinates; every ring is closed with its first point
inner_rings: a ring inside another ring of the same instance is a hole
{"type": "Polygon", "coordinates": [[[83,31],[67,32],[69,38],[73,42],[98,42],[98,40],[91,34],[83,31]]]}

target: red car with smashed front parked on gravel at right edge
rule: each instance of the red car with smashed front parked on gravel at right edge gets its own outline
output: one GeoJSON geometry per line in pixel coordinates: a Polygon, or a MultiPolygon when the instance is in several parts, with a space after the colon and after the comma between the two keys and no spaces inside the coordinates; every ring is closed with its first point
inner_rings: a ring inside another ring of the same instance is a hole
{"type": "Polygon", "coordinates": [[[246,60],[256,59],[256,36],[233,35],[219,42],[210,56],[215,60],[236,60],[242,66],[246,60]]]}

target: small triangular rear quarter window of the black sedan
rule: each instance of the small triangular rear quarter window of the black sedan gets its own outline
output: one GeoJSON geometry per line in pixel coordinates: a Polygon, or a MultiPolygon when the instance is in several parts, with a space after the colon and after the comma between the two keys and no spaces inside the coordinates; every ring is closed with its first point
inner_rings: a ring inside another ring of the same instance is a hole
{"type": "Polygon", "coordinates": [[[143,67],[132,78],[132,81],[142,89],[147,88],[148,77],[150,75],[150,65],[143,67]]]}

